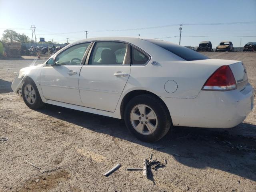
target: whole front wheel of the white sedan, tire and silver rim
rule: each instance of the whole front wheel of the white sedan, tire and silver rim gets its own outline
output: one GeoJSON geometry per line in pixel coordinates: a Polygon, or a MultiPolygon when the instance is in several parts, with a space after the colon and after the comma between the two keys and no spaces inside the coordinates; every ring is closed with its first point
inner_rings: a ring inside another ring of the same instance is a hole
{"type": "Polygon", "coordinates": [[[44,106],[36,84],[30,79],[22,85],[22,98],[30,109],[38,109],[44,106]]]}

